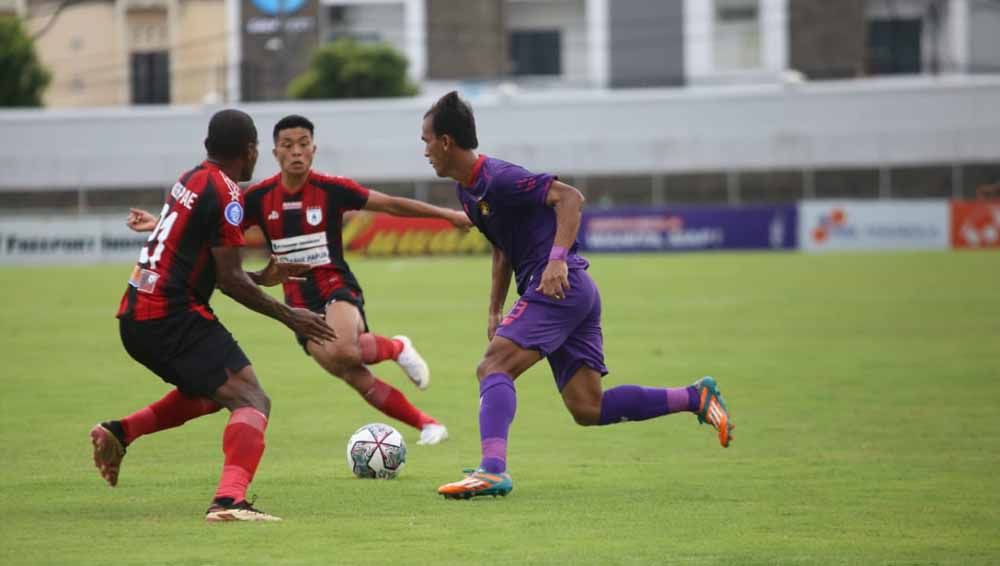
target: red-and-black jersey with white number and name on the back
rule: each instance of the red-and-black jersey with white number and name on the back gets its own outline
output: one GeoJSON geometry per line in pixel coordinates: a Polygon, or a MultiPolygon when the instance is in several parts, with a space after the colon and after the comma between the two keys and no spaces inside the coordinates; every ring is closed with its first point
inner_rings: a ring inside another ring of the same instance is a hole
{"type": "Polygon", "coordinates": [[[243,194],[218,165],[205,161],[170,189],[160,219],[139,253],[118,317],[151,320],[183,311],[214,319],[212,248],[242,246],[243,194]]]}

